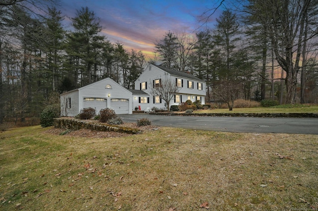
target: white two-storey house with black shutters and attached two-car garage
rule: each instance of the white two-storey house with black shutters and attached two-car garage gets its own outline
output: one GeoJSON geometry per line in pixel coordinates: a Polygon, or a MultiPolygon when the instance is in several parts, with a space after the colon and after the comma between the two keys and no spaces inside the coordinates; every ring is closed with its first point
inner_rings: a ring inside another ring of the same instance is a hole
{"type": "Polygon", "coordinates": [[[112,79],[105,78],[61,94],[61,115],[76,116],[85,107],[93,107],[97,112],[108,107],[114,109],[116,114],[132,114],[136,107],[139,110],[166,108],[160,96],[151,95],[150,86],[156,87],[161,80],[167,79],[179,87],[170,106],[186,100],[199,100],[205,104],[206,84],[203,80],[185,72],[150,64],[136,80],[135,90],[125,89],[112,79]]]}

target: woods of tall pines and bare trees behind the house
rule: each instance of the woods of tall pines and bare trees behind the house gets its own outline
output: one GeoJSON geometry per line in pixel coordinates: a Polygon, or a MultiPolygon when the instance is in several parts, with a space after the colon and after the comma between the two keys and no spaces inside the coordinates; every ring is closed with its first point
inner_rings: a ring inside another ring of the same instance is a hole
{"type": "Polygon", "coordinates": [[[148,62],[206,81],[205,102],[317,104],[318,1],[239,2],[214,26],[206,23],[221,8],[207,10],[194,33],[167,31],[147,58],[102,36],[107,26],[89,7],[66,29],[54,0],[0,1],[0,123],[38,117],[59,94],[103,78],[134,89],[148,62]]]}

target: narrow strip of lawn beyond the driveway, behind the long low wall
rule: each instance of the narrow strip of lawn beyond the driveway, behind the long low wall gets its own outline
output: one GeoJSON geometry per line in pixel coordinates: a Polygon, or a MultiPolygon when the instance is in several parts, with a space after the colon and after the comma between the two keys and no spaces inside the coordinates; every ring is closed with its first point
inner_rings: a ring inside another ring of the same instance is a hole
{"type": "Polygon", "coordinates": [[[318,113],[318,106],[308,107],[291,107],[291,106],[275,106],[275,107],[252,107],[252,108],[215,108],[207,110],[196,110],[194,113],[318,113]]]}

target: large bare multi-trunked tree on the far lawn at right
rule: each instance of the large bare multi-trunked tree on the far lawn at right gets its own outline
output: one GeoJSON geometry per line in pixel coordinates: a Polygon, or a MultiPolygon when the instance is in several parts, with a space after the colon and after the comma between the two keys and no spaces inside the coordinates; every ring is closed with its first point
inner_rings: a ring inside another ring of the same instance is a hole
{"type": "MultiPolygon", "coordinates": [[[[301,66],[301,54],[305,43],[306,17],[310,10],[317,10],[315,0],[251,0],[246,11],[257,17],[265,26],[276,60],[286,72],[287,89],[285,103],[295,103],[297,76],[301,66]]],[[[312,18],[317,19],[317,14],[312,18]]],[[[309,32],[309,31],[307,31],[309,32]]],[[[307,40],[317,35],[313,30],[307,40]]]]}

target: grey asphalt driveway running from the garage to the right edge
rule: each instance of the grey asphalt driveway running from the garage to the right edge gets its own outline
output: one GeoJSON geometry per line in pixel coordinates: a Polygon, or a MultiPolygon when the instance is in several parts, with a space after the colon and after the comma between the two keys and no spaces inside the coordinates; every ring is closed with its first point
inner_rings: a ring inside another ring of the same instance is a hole
{"type": "Polygon", "coordinates": [[[169,116],[119,114],[124,122],[148,118],[153,125],[242,133],[289,133],[318,135],[318,118],[258,118],[216,116],[169,116]]]}

